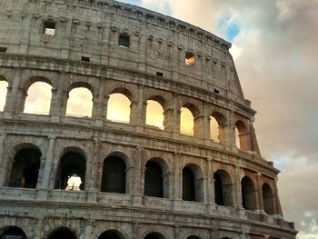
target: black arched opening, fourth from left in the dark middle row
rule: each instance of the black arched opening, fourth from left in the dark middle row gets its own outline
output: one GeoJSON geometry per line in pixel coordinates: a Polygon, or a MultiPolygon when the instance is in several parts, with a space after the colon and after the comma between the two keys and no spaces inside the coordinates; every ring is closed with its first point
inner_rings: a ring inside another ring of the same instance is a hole
{"type": "Polygon", "coordinates": [[[161,166],[154,161],[148,161],[144,171],[144,195],[164,197],[163,183],[161,166]]]}

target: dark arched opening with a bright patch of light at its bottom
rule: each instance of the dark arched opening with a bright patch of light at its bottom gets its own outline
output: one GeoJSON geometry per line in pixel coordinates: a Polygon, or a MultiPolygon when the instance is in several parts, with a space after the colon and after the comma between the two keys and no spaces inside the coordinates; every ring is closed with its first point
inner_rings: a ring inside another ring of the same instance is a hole
{"type": "Polygon", "coordinates": [[[66,152],[58,164],[55,189],[84,190],[86,160],[82,154],[66,152]]]}

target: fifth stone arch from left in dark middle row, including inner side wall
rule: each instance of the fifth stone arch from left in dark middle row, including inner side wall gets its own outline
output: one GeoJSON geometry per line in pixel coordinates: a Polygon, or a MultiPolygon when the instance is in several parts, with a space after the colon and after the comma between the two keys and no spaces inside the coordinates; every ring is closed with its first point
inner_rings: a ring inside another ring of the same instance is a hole
{"type": "Polygon", "coordinates": [[[204,174],[196,164],[185,164],[183,168],[183,200],[204,202],[204,174]]]}

